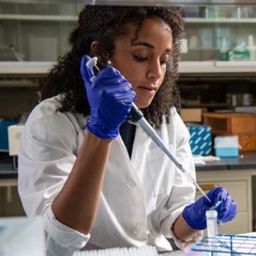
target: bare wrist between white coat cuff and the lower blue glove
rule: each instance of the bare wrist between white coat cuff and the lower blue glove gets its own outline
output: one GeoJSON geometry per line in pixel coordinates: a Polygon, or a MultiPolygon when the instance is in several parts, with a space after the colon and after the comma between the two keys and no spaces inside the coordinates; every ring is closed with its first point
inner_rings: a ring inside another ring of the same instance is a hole
{"type": "Polygon", "coordinates": [[[176,219],[176,222],[173,224],[173,233],[176,238],[180,239],[181,241],[189,241],[192,240],[196,236],[200,236],[203,231],[195,230],[185,221],[182,214],[176,219]]]}

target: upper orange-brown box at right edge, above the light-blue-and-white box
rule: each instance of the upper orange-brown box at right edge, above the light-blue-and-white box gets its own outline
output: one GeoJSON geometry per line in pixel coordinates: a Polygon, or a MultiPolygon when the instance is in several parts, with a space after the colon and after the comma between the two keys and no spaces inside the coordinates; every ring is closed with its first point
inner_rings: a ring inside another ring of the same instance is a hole
{"type": "Polygon", "coordinates": [[[255,132],[256,116],[252,113],[203,113],[203,124],[214,135],[238,135],[255,132]]]}

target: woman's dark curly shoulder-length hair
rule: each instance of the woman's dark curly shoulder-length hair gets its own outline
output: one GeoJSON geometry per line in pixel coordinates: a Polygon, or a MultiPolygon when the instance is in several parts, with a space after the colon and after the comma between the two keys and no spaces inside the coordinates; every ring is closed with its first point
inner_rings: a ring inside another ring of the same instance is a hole
{"type": "Polygon", "coordinates": [[[80,12],[78,26],[69,36],[71,50],[59,57],[57,64],[42,80],[41,99],[62,94],[59,111],[72,111],[89,116],[90,106],[86,98],[86,90],[80,75],[80,59],[91,55],[91,43],[98,41],[97,56],[99,63],[104,63],[115,50],[115,41],[128,32],[128,24],[135,23],[138,29],[146,18],[161,18],[170,26],[173,34],[173,48],[167,71],[151,105],[143,109],[148,122],[159,128],[165,117],[170,122],[170,108],[180,108],[180,93],[176,86],[178,80],[178,61],[180,59],[180,39],[184,28],[181,7],[113,7],[86,6],[80,12]]]}

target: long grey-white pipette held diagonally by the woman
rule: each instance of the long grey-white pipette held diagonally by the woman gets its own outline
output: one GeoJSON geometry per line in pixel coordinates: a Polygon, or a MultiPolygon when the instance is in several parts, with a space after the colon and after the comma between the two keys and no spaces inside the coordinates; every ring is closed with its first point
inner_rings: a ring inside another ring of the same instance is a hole
{"type": "MultiPolygon", "coordinates": [[[[107,61],[107,64],[110,64],[110,61],[107,61]]],[[[99,70],[99,68],[97,67],[97,57],[91,58],[86,63],[86,66],[87,67],[95,67],[97,70],[99,70]]],[[[95,75],[90,80],[93,81],[94,78],[95,78],[95,75]]],[[[132,102],[132,108],[130,110],[130,114],[128,117],[128,121],[131,123],[135,123],[135,124],[138,123],[140,125],[140,127],[144,130],[144,132],[146,132],[146,134],[152,140],[154,140],[154,143],[156,143],[157,146],[159,146],[159,148],[161,148],[162,151],[164,151],[164,153],[167,155],[167,157],[169,157],[170,160],[173,161],[173,163],[178,167],[178,169],[181,170],[182,173],[184,173],[184,175],[187,177],[187,179],[190,182],[192,182],[192,184],[194,184],[194,186],[198,189],[198,191],[203,196],[205,196],[209,202],[211,202],[210,198],[206,195],[206,193],[203,191],[203,189],[200,188],[200,186],[197,184],[195,179],[187,172],[187,170],[184,169],[184,167],[182,167],[182,165],[173,156],[173,154],[171,154],[170,150],[167,148],[167,146],[165,146],[164,141],[161,138],[159,138],[159,136],[157,135],[157,132],[155,132],[153,127],[151,127],[151,125],[148,124],[148,121],[146,121],[146,118],[144,118],[143,113],[138,109],[138,107],[133,102],[132,102]]]]}

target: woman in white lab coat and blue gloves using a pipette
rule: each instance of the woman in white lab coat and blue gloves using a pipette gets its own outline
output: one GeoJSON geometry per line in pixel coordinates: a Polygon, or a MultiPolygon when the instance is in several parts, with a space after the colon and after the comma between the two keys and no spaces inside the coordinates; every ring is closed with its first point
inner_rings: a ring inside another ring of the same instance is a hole
{"type": "Polygon", "coordinates": [[[223,188],[194,203],[195,187],[139,126],[132,102],[195,177],[189,132],[176,108],[178,7],[86,7],[42,87],[20,142],[18,188],[28,216],[42,217],[48,255],[151,244],[171,249],[202,236],[206,211],[236,216],[223,188]],[[97,78],[86,67],[99,58],[97,78]],[[110,60],[111,65],[104,66],[110,60]]]}

